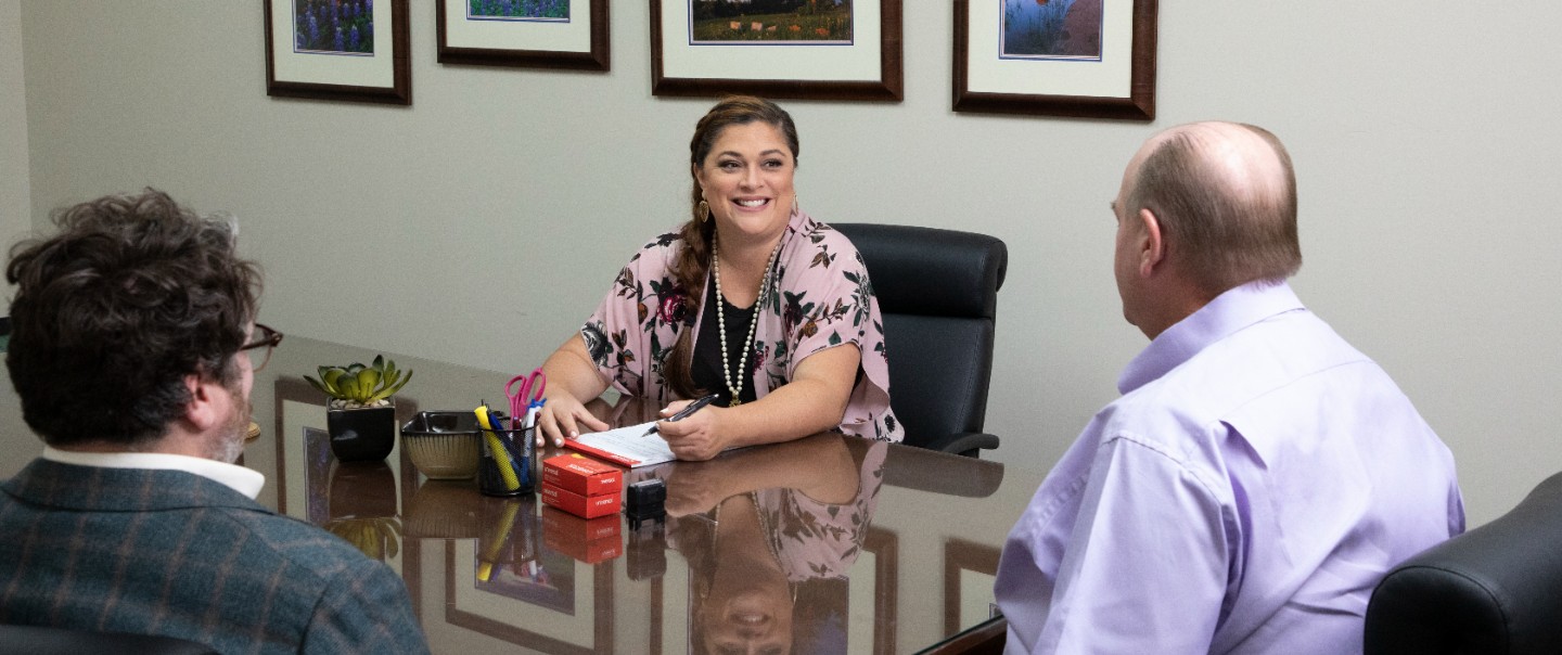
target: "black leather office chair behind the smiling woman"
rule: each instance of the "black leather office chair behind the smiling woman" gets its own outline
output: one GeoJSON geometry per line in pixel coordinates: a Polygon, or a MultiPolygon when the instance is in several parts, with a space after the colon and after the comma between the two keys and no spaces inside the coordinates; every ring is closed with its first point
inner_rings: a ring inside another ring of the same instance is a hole
{"type": "Polygon", "coordinates": [[[868,266],[889,349],[890,406],[906,444],[976,456],[993,320],[1009,250],[997,238],[909,225],[831,224],[868,266]]]}

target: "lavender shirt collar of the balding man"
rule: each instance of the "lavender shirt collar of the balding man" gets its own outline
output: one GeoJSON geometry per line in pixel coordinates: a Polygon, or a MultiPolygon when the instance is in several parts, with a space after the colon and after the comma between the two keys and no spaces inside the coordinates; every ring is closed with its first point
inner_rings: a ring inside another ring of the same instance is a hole
{"type": "Polygon", "coordinates": [[[1161,378],[1192,360],[1200,350],[1237,330],[1286,311],[1306,310],[1290,285],[1250,281],[1226,292],[1178,320],[1150,342],[1117,378],[1117,391],[1129,392],[1161,378]]]}

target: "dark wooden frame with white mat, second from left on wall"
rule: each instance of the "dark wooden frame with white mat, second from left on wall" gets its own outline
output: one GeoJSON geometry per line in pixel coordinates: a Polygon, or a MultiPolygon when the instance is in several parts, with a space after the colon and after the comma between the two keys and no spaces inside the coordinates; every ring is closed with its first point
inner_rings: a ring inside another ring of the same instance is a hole
{"type": "Polygon", "coordinates": [[[434,0],[439,63],[608,70],[608,0],[561,0],[561,17],[478,17],[478,0],[434,0]]]}

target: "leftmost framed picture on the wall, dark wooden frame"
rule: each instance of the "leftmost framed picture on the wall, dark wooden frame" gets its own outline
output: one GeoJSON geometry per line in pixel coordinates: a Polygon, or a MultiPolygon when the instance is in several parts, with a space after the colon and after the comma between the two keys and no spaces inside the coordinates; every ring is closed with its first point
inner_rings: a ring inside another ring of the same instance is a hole
{"type": "Polygon", "coordinates": [[[266,95],[412,103],[408,0],[264,0],[264,6],[266,95]]]}

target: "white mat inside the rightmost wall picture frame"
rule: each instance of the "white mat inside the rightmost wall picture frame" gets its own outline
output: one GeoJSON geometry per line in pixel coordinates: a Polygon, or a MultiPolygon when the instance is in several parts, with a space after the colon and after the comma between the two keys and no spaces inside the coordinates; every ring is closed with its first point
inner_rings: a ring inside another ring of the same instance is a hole
{"type": "Polygon", "coordinates": [[[1001,2],[970,2],[965,86],[972,92],[1126,98],[1134,81],[1134,0],[1103,0],[1101,61],[1000,59],[1001,2]]]}

